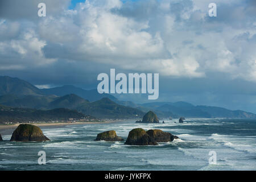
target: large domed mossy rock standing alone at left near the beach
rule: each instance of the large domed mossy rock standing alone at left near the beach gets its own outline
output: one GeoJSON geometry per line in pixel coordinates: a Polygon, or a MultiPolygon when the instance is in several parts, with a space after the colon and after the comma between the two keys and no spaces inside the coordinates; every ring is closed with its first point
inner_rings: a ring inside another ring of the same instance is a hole
{"type": "Polygon", "coordinates": [[[16,130],[14,130],[10,141],[16,142],[43,142],[49,140],[44,136],[42,130],[38,126],[20,124],[16,130]]]}

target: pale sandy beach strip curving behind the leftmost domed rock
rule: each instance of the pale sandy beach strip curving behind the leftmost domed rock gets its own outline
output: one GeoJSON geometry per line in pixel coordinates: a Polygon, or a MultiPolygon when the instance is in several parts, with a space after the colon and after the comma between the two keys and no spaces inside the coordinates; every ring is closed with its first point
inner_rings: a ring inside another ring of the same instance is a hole
{"type": "Polygon", "coordinates": [[[14,125],[0,125],[0,134],[3,135],[10,135],[13,131],[20,125],[20,124],[30,124],[35,125],[42,128],[51,128],[51,127],[64,127],[68,125],[91,125],[91,124],[107,124],[107,123],[116,123],[116,122],[123,122],[126,120],[118,119],[113,121],[105,121],[105,122],[75,122],[75,123],[15,123],[14,125]]]}

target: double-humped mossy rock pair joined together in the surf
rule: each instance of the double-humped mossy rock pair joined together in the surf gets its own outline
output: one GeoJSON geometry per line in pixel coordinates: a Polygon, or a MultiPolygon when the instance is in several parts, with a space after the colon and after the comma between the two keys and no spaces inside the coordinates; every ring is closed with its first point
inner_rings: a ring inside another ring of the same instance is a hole
{"type": "Polygon", "coordinates": [[[157,142],[171,142],[179,137],[162,130],[133,129],[129,132],[125,144],[129,145],[156,145],[157,142]]]}

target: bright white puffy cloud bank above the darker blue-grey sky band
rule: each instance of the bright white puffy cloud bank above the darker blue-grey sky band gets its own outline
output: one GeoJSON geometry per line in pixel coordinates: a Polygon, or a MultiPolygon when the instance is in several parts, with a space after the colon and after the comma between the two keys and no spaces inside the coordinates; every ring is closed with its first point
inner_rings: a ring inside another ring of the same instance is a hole
{"type": "MultiPolygon", "coordinates": [[[[247,7],[242,0],[232,2],[216,1],[218,12],[222,5],[234,8],[242,14],[237,20],[242,25],[247,7]]],[[[1,32],[10,36],[0,40],[1,66],[25,69],[65,59],[170,77],[214,72],[256,81],[255,22],[248,20],[242,27],[226,23],[235,15],[209,19],[207,3],[150,1],[134,3],[131,9],[119,0],[86,1],[75,10],[63,10],[63,5],[59,13],[38,22],[2,20],[0,37],[1,32]],[[249,37],[240,36],[245,32],[249,37]]]]}

